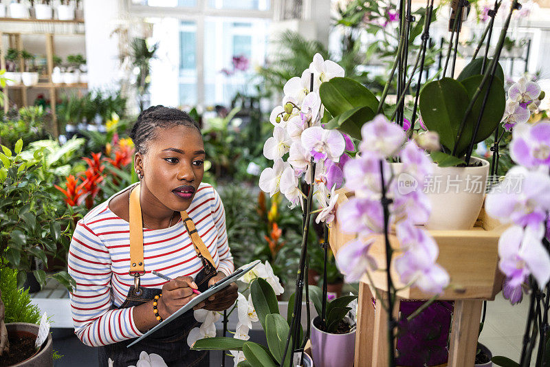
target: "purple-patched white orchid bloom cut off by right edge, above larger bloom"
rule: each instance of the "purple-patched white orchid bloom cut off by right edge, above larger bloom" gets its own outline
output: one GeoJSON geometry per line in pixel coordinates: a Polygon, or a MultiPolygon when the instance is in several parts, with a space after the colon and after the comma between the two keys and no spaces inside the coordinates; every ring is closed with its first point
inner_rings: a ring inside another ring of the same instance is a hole
{"type": "Polygon", "coordinates": [[[550,122],[516,126],[510,156],[514,162],[527,168],[550,166],[550,122]]]}

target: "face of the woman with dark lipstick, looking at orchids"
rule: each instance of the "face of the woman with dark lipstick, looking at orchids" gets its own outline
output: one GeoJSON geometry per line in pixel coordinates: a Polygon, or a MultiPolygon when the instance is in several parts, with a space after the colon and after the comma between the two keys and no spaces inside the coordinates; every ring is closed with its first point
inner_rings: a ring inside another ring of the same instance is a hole
{"type": "Polygon", "coordinates": [[[135,155],[135,168],[144,175],[146,201],[181,212],[187,210],[204,175],[204,144],[197,129],[188,126],[157,128],[146,153],[135,155]]]}

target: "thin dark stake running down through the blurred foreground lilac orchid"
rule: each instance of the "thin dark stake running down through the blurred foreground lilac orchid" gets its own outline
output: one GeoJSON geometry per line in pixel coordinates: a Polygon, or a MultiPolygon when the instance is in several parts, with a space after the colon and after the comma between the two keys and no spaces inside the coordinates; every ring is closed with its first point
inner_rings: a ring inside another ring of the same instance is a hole
{"type": "MultiPolygon", "coordinates": [[[[394,329],[397,326],[397,321],[393,318],[393,306],[395,303],[393,282],[391,280],[391,256],[393,250],[390,245],[390,238],[388,234],[389,227],[389,218],[390,210],[389,205],[392,203],[392,200],[386,197],[386,183],[384,183],[384,161],[380,160],[380,183],[382,186],[382,208],[384,208],[384,241],[386,241],[386,279],[388,282],[388,362],[389,366],[395,366],[395,334],[394,329]]],[[[382,300],[380,300],[382,301],[382,300]]]]}

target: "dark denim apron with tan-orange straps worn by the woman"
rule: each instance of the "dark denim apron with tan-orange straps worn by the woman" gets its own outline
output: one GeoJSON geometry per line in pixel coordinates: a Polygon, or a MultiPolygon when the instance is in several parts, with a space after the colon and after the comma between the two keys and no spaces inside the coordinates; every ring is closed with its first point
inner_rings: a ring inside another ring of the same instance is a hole
{"type": "MultiPolygon", "coordinates": [[[[162,289],[147,288],[140,286],[140,275],[145,274],[144,260],[143,260],[143,232],[142,232],[142,220],[141,210],[139,208],[139,184],[135,186],[130,195],[130,233],[131,233],[131,256],[130,256],[130,274],[135,278],[134,285],[130,287],[126,300],[120,305],[120,307],[111,307],[111,309],[124,309],[128,307],[139,306],[140,304],[149,302],[162,292],[162,289]],[[137,198],[137,199],[136,199],[137,198]],[[132,205],[133,204],[133,205],[132,205]],[[136,209],[137,205],[137,209],[136,209]],[[139,217],[139,230],[141,234],[141,251],[135,249],[138,247],[135,245],[138,241],[133,238],[137,230],[137,225],[133,225],[139,217]],[[134,220],[133,220],[134,219],[134,220]],[[136,291],[137,289],[137,291],[136,291]]],[[[199,257],[203,263],[203,268],[197,276],[195,276],[195,283],[199,288],[199,291],[203,292],[208,289],[208,280],[217,274],[216,267],[212,256],[206,249],[206,245],[200,239],[195,229],[195,224],[189,218],[186,212],[181,212],[181,218],[184,220],[188,234],[195,245],[197,251],[197,257],[199,257]],[[203,256],[204,255],[204,256],[203,256]]],[[[154,269],[151,269],[154,270],[154,269]]],[[[153,308],[151,308],[151,313],[153,308]]],[[[208,351],[190,351],[187,345],[187,336],[191,329],[199,326],[200,323],[195,320],[193,311],[188,311],[172,322],[166,324],[166,326],[155,331],[155,333],[144,338],[140,342],[130,348],[126,348],[132,340],[124,340],[114,344],[107,344],[106,346],[99,347],[99,366],[107,367],[109,358],[113,361],[113,367],[127,367],[130,365],[135,366],[140,359],[140,353],[145,351],[148,354],[156,353],[160,355],[164,362],[170,367],[208,367],[210,366],[208,351]]]]}

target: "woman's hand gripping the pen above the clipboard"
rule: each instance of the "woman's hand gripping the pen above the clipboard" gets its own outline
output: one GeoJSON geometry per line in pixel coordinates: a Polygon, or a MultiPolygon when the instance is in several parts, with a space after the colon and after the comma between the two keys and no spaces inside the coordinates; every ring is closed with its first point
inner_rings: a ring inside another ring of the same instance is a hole
{"type": "Polygon", "coordinates": [[[197,297],[192,289],[197,285],[190,276],[178,276],[177,278],[164,283],[162,286],[162,297],[157,301],[159,315],[165,319],[184,307],[190,300],[197,297]]]}

